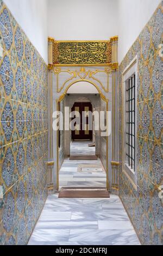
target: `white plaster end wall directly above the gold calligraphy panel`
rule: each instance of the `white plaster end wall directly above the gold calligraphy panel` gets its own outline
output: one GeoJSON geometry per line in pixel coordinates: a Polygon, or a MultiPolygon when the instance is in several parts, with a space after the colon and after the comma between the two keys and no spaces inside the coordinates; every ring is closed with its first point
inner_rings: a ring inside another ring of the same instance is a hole
{"type": "Polygon", "coordinates": [[[118,0],[48,1],[48,35],[56,40],[108,40],[118,33],[118,0]]]}

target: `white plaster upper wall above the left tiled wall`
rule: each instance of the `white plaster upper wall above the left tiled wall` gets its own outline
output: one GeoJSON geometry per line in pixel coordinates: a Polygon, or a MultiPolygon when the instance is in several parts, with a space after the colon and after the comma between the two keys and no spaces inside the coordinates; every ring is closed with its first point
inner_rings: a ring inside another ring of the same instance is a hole
{"type": "Polygon", "coordinates": [[[4,3],[47,63],[48,0],[4,0],[4,3]]]}

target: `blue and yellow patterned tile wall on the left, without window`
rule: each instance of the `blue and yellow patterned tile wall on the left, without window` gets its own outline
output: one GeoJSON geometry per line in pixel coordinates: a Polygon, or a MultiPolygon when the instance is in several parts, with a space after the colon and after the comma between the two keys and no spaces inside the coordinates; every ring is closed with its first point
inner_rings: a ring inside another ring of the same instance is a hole
{"type": "Polygon", "coordinates": [[[0,0],[0,245],[26,245],[47,198],[47,65],[0,0]]]}

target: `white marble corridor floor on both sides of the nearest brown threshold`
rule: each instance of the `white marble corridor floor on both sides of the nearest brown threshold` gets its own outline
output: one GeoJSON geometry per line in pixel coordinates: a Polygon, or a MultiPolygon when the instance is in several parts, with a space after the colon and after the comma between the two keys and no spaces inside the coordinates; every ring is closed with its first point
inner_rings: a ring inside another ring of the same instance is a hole
{"type": "MultiPolygon", "coordinates": [[[[62,186],[106,186],[101,160],[65,159],[59,174],[62,186]]],[[[140,245],[118,196],[58,198],[48,196],[29,245],[140,245]]]]}

